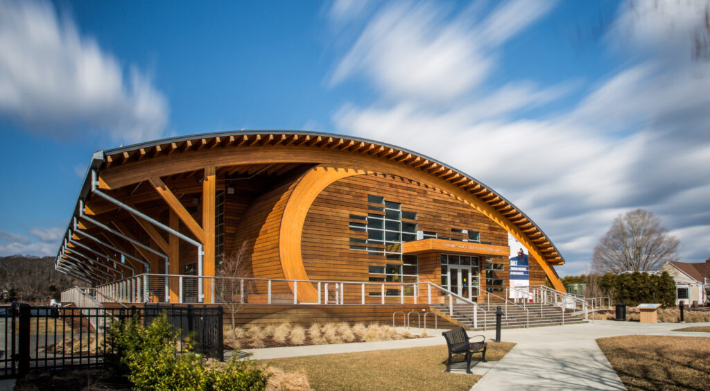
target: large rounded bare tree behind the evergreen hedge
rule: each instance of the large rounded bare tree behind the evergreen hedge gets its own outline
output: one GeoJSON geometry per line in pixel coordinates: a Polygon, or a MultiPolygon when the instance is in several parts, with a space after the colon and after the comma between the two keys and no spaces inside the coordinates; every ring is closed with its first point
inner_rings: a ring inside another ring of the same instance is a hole
{"type": "Polygon", "coordinates": [[[614,219],[594,248],[591,266],[601,273],[653,271],[678,260],[678,245],[678,239],[668,234],[658,217],[636,209],[614,219]]]}

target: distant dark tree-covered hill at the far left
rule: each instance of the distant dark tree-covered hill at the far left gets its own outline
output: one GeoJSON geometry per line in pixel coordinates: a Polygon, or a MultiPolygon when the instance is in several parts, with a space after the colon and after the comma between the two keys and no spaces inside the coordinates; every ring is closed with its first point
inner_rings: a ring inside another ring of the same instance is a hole
{"type": "Polygon", "coordinates": [[[0,257],[0,302],[48,304],[73,285],[86,283],[55,270],[53,257],[0,257]]]}

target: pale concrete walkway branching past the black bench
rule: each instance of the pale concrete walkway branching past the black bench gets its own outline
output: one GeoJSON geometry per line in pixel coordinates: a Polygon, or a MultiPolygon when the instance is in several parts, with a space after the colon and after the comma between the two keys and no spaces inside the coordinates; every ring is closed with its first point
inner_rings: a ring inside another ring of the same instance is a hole
{"type": "MultiPolygon", "coordinates": [[[[710,333],[672,331],[690,326],[710,326],[710,323],[640,324],[630,321],[597,320],[589,324],[505,329],[501,333],[501,340],[515,342],[517,345],[498,363],[479,364],[471,368],[476,375],[484,375],[472,390],[624,390],[623,383],[596,345],[596,338],[633,334],[710,337],[710,333]]],[[[418,329],[410,331],[413,334],[420,333],[418,329]]],[[[441,336],[441,331],[427,330],[427,333],[432,336],[429,338],[263,348],[251,349],[247,352],[252,353],[251,359],[263,360],[417,346],[443,346],[446,343],[441,336]]],[[[495,331],[475,333],[484,334],[489,340],[495,338],[495,331]]],[[[463,372],[462,369],[460,371],[463,372]]]]}

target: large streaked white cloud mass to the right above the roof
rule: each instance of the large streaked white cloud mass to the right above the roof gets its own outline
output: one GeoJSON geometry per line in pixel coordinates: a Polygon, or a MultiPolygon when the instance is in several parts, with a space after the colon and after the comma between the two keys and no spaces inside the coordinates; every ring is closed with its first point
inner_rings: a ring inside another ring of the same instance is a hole
{"type": "Polygon", "coordinates": [[[491,86],[491,69],[505,61],[498,45],[540,20],[550,3],[511,1],[479,23],[445,18],[429,4],[383,9],[335,74],[337,81],[365,75],[381,99],[344,104],[332,120],[339,131],[420,151],[491,185],[550,235],[567,259],[562,275],[584,272],[613,219],[636,208],[662,218],[681,239],[684,261],[704,260],[710,62],[694,61],[690,45],[704,13],[687,1],[661,1],[654,10],[657,2],[639,3],[622,6],[603,40],[628,56],[625,65],[572,109],[534,119],[525,111],[564,97],[574,82],[491,86]],[[403,62],[419,53],[444,65],[410,72],[403,62]],[[467,67],[475,72],[460,77],[456,70],[467,67]],[[440,104],[451,97],[455,106],[440,104]]]}

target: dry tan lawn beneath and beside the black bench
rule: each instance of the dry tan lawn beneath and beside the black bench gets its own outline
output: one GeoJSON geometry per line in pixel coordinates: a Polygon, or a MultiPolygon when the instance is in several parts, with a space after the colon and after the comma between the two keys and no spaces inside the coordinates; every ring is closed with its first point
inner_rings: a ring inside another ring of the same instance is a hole
{"type": "MultiPolygon", "coordinates": [[[[488,342],[486,359],[498,361],[515,346],[488,342]]],[[[305,373],[314,390],[469,390],[479,375],[444,373],[445,345],[361,353],[260,360],[288,372],[305,373]]],[[[463,356],[454,356],[462,360],[463,356]]],[[[474,355],[474,361],[481,355],[474,355]]]]}

